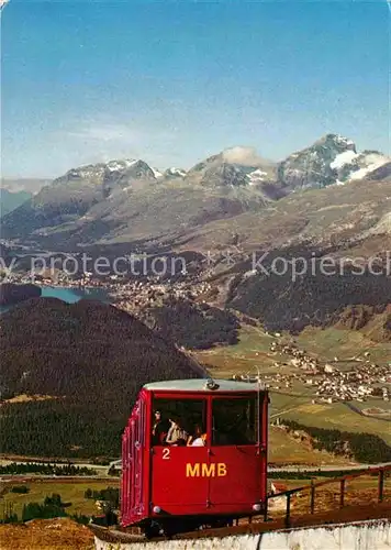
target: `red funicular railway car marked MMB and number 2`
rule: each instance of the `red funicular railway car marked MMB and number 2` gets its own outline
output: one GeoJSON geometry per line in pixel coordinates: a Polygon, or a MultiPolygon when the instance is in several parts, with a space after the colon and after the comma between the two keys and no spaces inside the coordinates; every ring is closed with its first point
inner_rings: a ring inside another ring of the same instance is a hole
{"type": "Polygon", "coordinates": [[[264,513],[268,403],[246,382],[146,384],[122,439],[122,527],[150,538],[264,513]]]}

